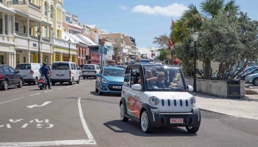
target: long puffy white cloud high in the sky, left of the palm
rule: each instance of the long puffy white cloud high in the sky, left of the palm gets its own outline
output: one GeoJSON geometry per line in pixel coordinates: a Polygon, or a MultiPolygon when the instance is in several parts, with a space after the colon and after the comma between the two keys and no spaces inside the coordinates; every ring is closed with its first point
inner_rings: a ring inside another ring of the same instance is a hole
{"type": "Polygon", "coordinates": [[[187,6],[184,4],[173,3],[172,5],[165,7],[155,6],[153,8],[151,8],[149,5],[137,5],[132,9],[132,12],[144,13],[154,16],[162,15],[180,17],[187,9],[187,6]]]}

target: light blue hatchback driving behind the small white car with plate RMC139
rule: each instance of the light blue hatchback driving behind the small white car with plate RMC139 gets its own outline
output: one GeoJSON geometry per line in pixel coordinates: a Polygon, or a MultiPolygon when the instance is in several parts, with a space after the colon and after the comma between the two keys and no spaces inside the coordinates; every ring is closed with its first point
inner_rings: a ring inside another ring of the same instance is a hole
{"type": "Polygon", "coordinates": [[[122,93],[125,70],[118,67],[104,66],[96,74],[95,92],[99,95],[103,93],[122,93]]]}

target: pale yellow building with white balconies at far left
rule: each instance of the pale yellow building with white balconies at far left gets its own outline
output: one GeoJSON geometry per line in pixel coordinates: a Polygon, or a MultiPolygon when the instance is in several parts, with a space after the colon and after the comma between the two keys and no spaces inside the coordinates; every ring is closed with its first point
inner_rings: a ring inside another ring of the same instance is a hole
{"type": "Polygon", "coordinates": [[[76,52],[75,43],[69,48],[67,40],[62,40],[63,0],[2,1],[0,61],[4,64],[12,67],[18,62],[51,64],[68,59],[69,49],[76,52]],[[40,36],[36,31],[41,32],[40,36]]]}

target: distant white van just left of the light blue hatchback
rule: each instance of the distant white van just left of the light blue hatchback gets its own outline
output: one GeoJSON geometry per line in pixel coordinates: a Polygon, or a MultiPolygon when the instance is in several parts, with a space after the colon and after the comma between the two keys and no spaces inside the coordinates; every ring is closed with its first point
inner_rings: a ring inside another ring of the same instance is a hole
{"type": "Polygon", "coordinates": [[[97,78],[97,73],[99,73],[100,68],[97,64],[85,64],[83,67],[83,78],[94,77],[97,78]]]}

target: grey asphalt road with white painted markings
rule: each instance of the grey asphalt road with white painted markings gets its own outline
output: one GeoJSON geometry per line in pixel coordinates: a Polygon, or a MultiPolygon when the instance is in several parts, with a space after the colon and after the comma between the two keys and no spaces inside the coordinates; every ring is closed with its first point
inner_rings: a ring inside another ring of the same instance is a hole
{"type": "Polygon", "coordinates": [[[145,134],[131,120],[119,120],[117,94],[98,96],[95,79],[0,91],[0,147],[256,147],[257,120],[201,111],[201,127],[161,127],[145,134]]]}

